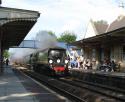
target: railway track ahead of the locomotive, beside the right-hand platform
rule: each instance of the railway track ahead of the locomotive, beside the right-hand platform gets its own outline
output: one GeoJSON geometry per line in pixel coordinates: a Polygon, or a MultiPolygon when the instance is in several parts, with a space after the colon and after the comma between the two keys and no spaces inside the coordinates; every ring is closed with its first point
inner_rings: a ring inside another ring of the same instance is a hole
{"type": "Polygon", "coordinates": [[[88,89],[90,91],[102,94],[104,96],[107,97],[111,97],[114,98],[116,100],[125,102],[125,91],[124,90],[120,90],[117,88],[111,88],[105,85],[101,85],[101,84],[95,84],[95,83],[90,83],[90,82],[86,82],[86,81],[81,81],[78,79],[59,79],[62,82],[80,87],[80,88],[84,88],[84,89],[88,89]]]}

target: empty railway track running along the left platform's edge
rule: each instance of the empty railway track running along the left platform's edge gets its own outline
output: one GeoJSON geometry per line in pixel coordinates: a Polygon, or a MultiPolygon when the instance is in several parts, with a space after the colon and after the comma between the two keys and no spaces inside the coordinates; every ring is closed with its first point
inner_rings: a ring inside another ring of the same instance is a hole
{"type": "Polygon", "coordinates": [[[79,96],[75,95],[74,93],[67,91],[67,90],[71,91],[72,88],[64,85],[64,83],[60,83],[58,80],[56,80],[54,78],[43,76],[43,75],[40,75],[40,74],[32,72],[32,71],[26,71],[26,70],[25,71],[21,70],[21,71],[23,73],[25,73],[26,75],[38,80],[42,84],[45,84],[46,86],[59,92],[60,94],[64,95],[65,97],[69,98],[72,102],[87,102],[86,100],[80,98],[79,96]]]}

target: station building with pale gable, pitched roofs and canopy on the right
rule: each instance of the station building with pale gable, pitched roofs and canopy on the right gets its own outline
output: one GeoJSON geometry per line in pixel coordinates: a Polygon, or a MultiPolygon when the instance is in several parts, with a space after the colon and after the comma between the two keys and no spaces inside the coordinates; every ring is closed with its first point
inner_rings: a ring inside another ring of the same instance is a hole
{"type": "Polygon", "coordinates": [[[114,60],[125,70],[125,15],[119,15],[111,24],[90,20],[85,38],[73,45],[80,46],[85,59],[90,59],[97,68],[100,61],[114,60]]]}

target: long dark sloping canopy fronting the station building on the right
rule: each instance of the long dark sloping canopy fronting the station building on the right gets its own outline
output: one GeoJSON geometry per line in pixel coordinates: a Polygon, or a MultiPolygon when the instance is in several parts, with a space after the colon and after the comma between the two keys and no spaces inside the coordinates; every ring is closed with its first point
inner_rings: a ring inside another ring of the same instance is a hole
{"type": "Polygon", "coordinates": [[[125,27],[73,42],[75,46],[100,46],[125,43],[125,27]]]}

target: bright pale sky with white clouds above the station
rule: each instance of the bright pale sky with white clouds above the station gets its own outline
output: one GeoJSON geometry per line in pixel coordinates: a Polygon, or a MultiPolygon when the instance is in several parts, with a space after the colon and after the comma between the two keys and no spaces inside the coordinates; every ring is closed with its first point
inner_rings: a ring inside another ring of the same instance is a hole
{"type": "MultiPolygon", "coordinates": [[[[2,0],[2,6],[35,10],[40,17],[25,39],[39,31],[51,30],[59,37],[64,31],[74,32],[77,40],[84,37],[90,19],[111,23],[119,15],[120,0],[2,0]]],[[[125,0],[123,0],[125,2],[125,0]]]]}

